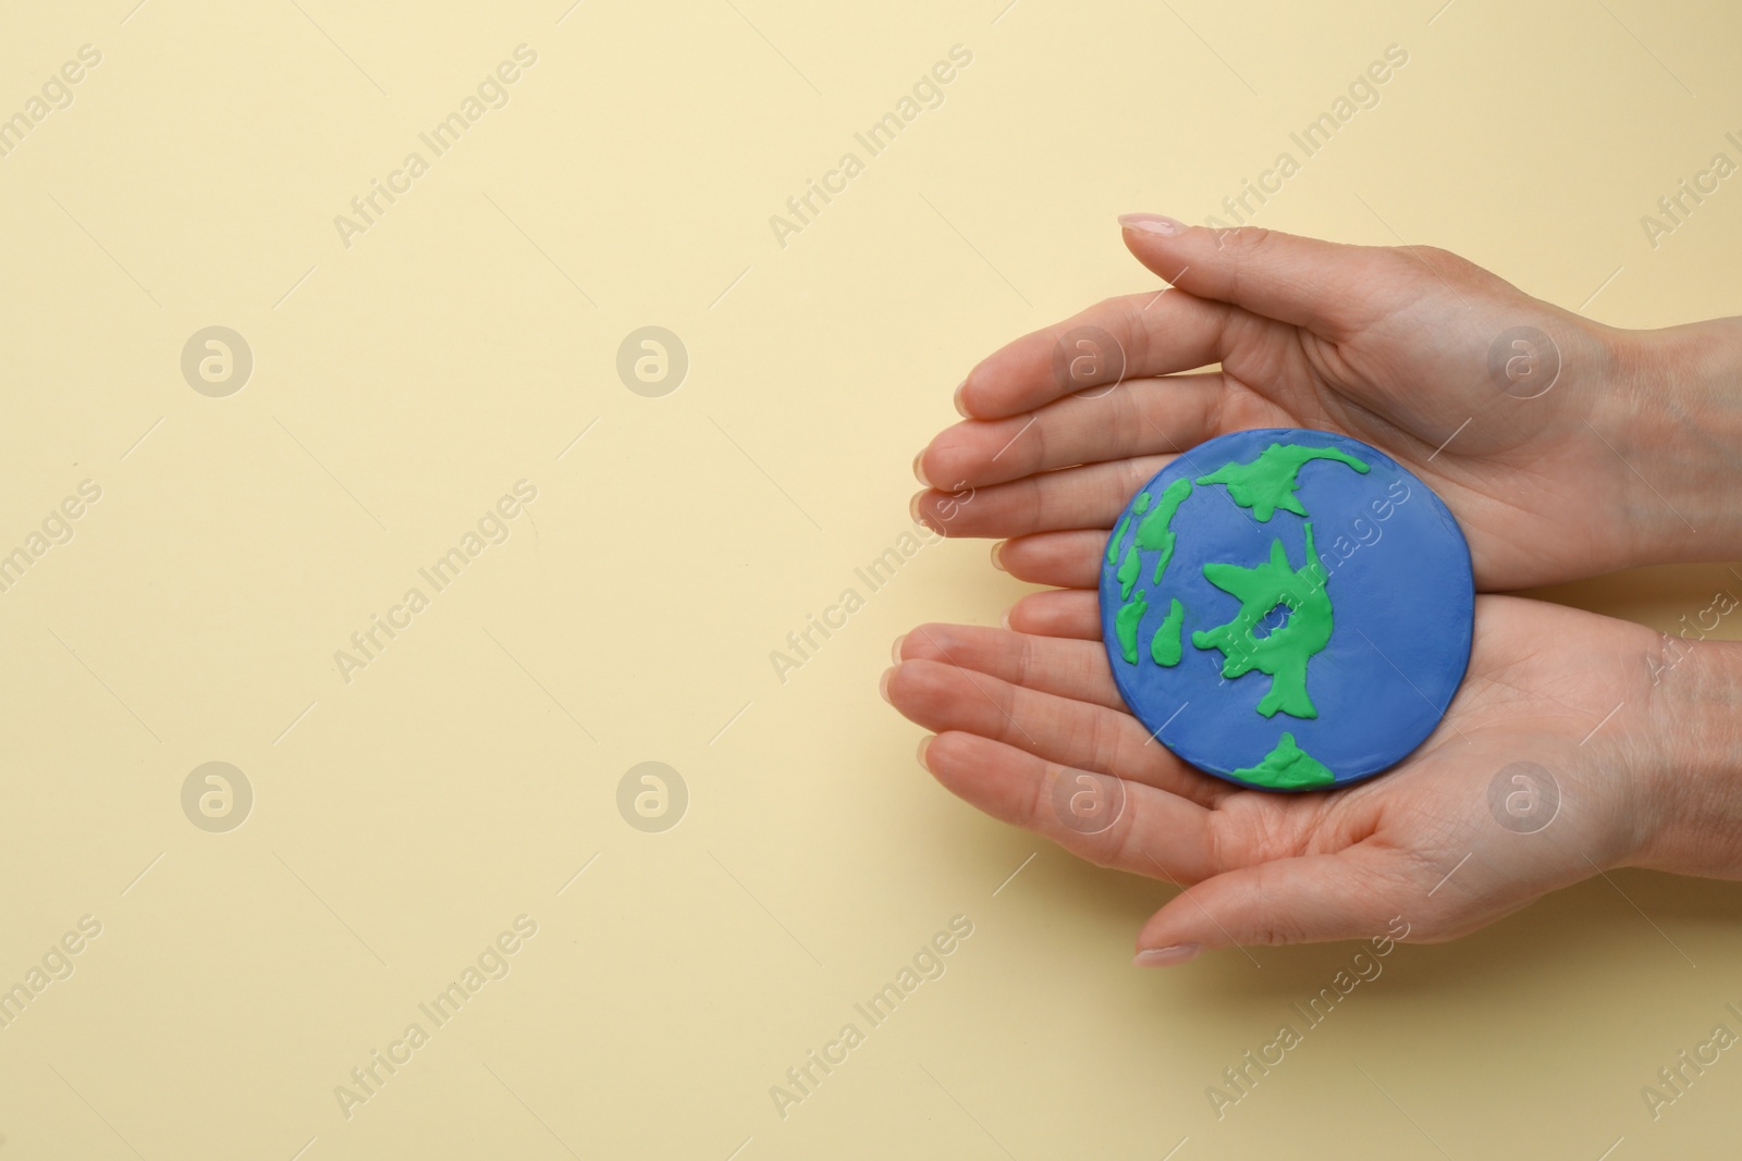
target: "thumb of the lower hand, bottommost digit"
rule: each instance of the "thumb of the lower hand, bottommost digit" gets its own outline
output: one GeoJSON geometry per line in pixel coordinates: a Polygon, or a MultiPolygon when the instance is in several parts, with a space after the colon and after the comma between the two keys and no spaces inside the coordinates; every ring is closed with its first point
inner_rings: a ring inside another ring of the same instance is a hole
{"type": "MultiPolygon", "coordinates": [[[[1387,931],[1420,882],[1395,853],[1361,842],[1228,870],[1188,888],[1143,924],[1139,964],[1183,963],[1190,949],[1317,943],[1387,931]],[[1150,954],[1144,954],[1148,950],[1150,954]]],[[[1394,938],[1397,931],[1392,931],[1394,938]]]]}

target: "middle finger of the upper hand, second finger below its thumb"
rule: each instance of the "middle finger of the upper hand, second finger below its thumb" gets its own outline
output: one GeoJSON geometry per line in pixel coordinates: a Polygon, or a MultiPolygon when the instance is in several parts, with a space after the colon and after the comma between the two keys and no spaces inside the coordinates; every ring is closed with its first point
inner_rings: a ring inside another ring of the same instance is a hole
{"type": "MultiPolygon", "coordinates": [[[[1068,397],[1009,419],[969,419],[941,432],[915,461],[923,480],[953,491],[1017,480],[1080,463],[1178,454],[1221,430],[1228,379],[1221,372],[1136,379],[1094,397],[1068,397]]],[[[1252,399],[1242,426],[1284,413],[1252,399]]]]}

